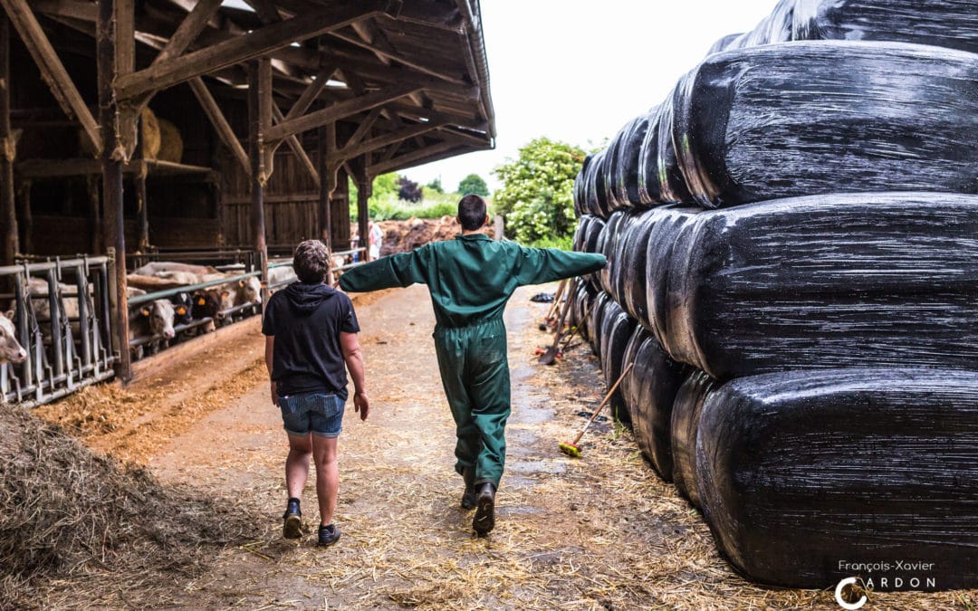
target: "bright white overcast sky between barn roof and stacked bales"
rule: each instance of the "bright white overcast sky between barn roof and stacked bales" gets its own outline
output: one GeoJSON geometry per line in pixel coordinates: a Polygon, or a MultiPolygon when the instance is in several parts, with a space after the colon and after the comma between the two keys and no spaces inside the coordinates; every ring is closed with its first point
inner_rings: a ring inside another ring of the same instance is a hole
{"type": "Polygon", "coordinates": [[[546,136],[592,149],[662,101],[719,38],[753,28],[777,0],[484,0],[496,149],[408,168],[454,191],[546,136]]]}

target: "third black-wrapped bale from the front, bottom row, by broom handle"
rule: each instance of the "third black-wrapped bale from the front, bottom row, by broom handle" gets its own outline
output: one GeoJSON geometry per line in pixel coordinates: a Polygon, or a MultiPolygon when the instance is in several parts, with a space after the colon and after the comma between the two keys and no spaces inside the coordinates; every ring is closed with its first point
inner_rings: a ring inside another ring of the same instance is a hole
{"type": "Polygon", "coordinates": [[[629,383],[624,394],[636,442],[659,476],[671,482],[672,410],[676,393],[690,370],[670,359],[655,336],[642,327],[632,334],[625,354],[626,362],[631,359],[635,363],[622,385],[629,383]]]}

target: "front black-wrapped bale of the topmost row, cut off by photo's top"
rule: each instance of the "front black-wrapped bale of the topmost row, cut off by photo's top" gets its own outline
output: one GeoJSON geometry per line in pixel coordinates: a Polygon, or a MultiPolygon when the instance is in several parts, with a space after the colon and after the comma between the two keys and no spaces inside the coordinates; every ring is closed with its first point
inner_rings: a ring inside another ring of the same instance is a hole
{"type": "Polygon", "coordinates": [[[798,0],[792,39],[889,40],[978,53],[974,0],[798,0]]]}

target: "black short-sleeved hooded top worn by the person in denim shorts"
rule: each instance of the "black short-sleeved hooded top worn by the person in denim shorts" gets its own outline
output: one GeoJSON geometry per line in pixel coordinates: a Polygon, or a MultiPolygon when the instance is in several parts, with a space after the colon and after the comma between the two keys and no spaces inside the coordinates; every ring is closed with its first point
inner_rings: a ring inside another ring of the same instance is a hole
{"type": "Polygon", "coordinates": [[[353,303],[327,284],[290,284],[268,300],[261,332],[275,336],[272,379],[280,396],[335,393],[346,400],[340,331],[360,330],[353,303]]]}

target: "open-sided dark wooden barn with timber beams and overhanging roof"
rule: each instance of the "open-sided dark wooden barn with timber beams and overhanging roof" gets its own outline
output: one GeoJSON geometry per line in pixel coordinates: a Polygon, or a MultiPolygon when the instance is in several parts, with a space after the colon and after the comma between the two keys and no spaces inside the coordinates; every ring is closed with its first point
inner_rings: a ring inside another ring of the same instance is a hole
{"type": "Polygon", "coordinates": [[[494,146],[478,0],[0,5],[0,266],[107,255],[122,379],[127,257],[267,281],[270,251],[349,248],[348,178],[364,236],[374,177],[494,146]]]}

